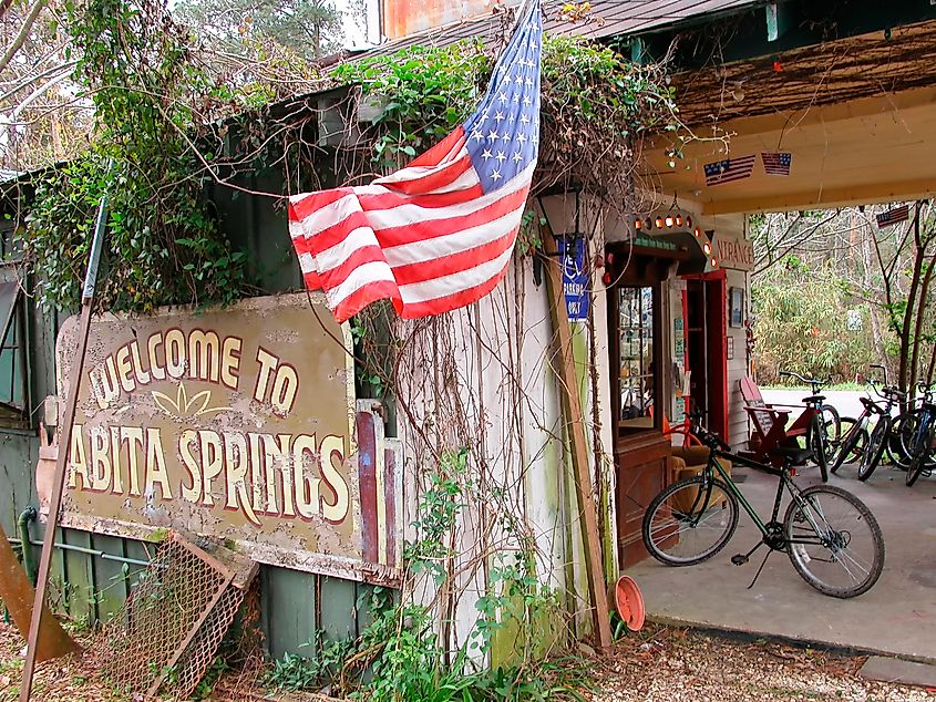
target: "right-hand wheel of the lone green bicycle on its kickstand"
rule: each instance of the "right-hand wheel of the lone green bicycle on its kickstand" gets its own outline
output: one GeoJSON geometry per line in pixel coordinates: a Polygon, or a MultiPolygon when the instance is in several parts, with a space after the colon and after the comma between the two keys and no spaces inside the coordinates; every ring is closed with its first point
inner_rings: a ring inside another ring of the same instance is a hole
{"type": "Polygon", "coordinates": [[[866,592],[884,568],[884,537],[871,510],[833,485],[814,485],[786,508],[783,535],[800,577],[823,595],[866,592]]]}

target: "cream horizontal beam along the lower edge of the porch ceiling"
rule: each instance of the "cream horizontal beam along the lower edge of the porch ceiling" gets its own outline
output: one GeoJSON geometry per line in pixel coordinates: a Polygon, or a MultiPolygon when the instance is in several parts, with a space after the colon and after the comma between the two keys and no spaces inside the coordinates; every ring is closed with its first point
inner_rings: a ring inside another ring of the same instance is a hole
{"type": "MultiPolygon", "coordinates": [[[[790,176],[793,178],[794,176],[790,176]]],[[[871,177],[871,176],[868,176],[871,177]]],[[[776,195],[755,195],[733,199],[717,199],[702,205],[704,215],[732,213],[765,213],[813,207],[832,208],[848,205],[871,205],[896,200],[929,199],[936,195],[936,173],[932,178],[892,183],[866,183],[840,188],[814,188],[776,195]]]]}

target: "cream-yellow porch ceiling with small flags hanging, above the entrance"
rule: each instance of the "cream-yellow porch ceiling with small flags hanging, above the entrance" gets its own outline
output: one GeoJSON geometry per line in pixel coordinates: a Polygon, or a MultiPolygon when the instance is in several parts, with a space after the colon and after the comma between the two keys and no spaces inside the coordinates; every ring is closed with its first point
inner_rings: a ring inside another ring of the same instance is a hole
{"type": "MultiPolygon", "coordinates": [[[[722,142],[698,141],[668,165],[670,137],[645,152],[648,185],[700,203],[706,214],[778,211],[927,198],[936,193],[936,87],[720,123],[722,142]],[[790,152],[789,176],[760,159],[745,179],[706,186],[704,164],[790,152]]],[[[708,135],[711,130],[707,130],[708,135]]],[[[704,128],[697,130],[706,136],[704,128]]]]}

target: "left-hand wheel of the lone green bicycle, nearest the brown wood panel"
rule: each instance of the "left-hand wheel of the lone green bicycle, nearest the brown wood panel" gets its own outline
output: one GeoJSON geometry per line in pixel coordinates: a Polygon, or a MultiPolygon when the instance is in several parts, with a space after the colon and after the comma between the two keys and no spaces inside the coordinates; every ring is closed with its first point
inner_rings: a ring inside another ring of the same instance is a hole
{"type": "Polygon", "coordinates": [[[738,500],[719,479],[679,481],[654,498],[644,515],[644,546],[668,566],[711,558],[734,535],[738,500]]]}

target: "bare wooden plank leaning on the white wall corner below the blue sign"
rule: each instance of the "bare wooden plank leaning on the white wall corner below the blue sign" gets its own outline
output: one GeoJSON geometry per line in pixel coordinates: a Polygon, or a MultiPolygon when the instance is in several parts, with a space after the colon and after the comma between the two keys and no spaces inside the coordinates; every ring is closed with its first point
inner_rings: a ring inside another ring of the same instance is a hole
{"type": "Polygon", "coordinates": [[[582,514],[585,535],[585,570],[588,574],[588,589],[592,593],[592,621],[598,646],[607,649],[611,646],[610,610],[608,609],[608,592],[605,585],[605,569],[601,559],[601,538],[598,535],[598,515],[595,510],[595,497],[592,493],[592,473],[588,466],[588,444],[585,438],[585,415],[582,412],[582,401],[578,396],[578,378],[575,374],[575,359],[572,349],[572,329],[569,328],[568,310],[563,293],[563,278],[558,264],[558,247],[548,226],[541,227],[543,250],[548,260],[546,268],[546,293],[549,302],[549,314],[553,329],[559,347],[559,395],[563,412],[566,415],[569,444],[572,445],[572,464],[575,474],[575,493],[578,498],[578,510],[582,514]]]}

